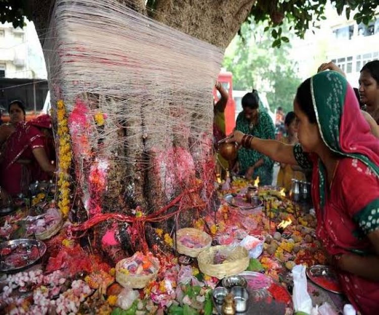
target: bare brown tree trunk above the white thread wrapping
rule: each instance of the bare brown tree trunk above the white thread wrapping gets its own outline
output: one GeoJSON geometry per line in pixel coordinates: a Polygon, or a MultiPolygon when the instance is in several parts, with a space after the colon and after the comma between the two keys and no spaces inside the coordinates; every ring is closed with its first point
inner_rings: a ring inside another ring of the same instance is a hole
{"type": "MultiPolygon", "coordinates": [[[[144,0],[118,0],[146,14],[144,0]]],[[[217,47],[226,48],[249,16],[256,0],[157,0],[150,16],[217,47]]],[[[55,0],[32,0],[33,22],[43,44],[55,0]]]]}

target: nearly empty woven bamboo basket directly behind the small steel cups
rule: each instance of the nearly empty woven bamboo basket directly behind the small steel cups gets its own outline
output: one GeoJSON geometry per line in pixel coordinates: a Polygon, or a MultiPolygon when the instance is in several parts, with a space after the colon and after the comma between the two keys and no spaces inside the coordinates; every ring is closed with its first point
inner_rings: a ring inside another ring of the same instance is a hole
{"type": "Polygon", "coordinates": [[[243,246],[212,246],[202,251],[198,256],[199,269],[202,273],[222,279],[226,276],[239,274],[249,266],[249,252],[243,246]],[[220,264],[214,264],[213,258],[217,251],[230,250],[226,260],[220,264]]]}

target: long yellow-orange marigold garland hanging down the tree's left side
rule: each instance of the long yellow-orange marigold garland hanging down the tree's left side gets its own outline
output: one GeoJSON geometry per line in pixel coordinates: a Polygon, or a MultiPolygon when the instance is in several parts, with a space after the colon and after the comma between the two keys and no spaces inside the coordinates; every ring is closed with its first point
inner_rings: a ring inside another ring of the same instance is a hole
{"type": "Polygon", "coordinates": [[[58,207],[64,216],[70,211],[70,174],[71,166],[71,138],[66,118],[66,109],[62,100],[57,101],[57,118],[58,118],[58,157],[59,157],[59,175],[58,190],[59,201],[58,207]]]}

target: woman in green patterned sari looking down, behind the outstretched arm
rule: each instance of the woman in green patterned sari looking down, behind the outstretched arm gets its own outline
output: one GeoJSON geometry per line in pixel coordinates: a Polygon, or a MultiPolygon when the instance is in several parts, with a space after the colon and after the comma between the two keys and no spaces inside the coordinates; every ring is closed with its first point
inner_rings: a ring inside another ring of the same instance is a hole
{"type": "MultiPolygon", "coordinates": [[[[259,96],[256,90],[242,98],[244,109],[236,120],[235,130],[261,138],[275,139],[275,127],[271,117],[259,110],[259,96]]],[[[255,150],[241,148],[238,151],[234,170],[248,179],[259,176],[261,185],[271,185],[274,161],[255,150]]]]}

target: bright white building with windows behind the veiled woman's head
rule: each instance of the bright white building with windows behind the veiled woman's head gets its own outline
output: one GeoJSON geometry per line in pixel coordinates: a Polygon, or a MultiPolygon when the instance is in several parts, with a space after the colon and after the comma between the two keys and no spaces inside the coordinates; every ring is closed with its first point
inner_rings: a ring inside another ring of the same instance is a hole
{"type": "Polygon", "coordinates": [[[337,10],[327,5],[326,20],[319,29],[306,33],[305,39],[294,39],[291,58],[298,62],[302,79],[315,74],[321,63],[333,61],[344,70],[354,87],[358,86],[359,73],[368,61],[379,59],[379,17],[368,26],[357,25],[346,19],[345,12],[338,16],[337,10]]]}

